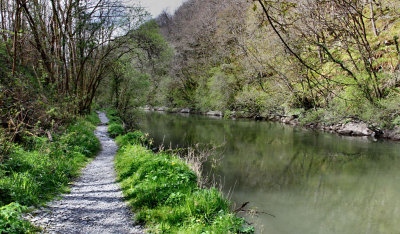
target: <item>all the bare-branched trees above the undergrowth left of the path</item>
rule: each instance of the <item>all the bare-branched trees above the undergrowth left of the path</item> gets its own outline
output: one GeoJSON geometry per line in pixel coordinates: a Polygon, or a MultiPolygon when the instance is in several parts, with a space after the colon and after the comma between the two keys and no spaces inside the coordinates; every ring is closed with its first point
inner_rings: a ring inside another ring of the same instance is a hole
{"type": "Polygon", "coordinates": [[[131,30],[147,16],[143,8],[120,0],[86,4],[90,6],[60,0],[0,4],[0,54],[5,52],[9,78],[34,83],[30,88],[35,96],[50,96],[57,104],[67,102],[71,112],[80,114],[90,111],[115,58],[133,49],[131,30]],[[30,76],[21,76],[27,71],[30,76]]]}

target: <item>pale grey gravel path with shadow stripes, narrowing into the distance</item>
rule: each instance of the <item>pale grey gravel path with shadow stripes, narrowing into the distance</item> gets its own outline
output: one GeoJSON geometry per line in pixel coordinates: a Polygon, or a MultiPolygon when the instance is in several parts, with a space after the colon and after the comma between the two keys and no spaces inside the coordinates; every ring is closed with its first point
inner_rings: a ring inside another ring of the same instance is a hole
{"type": "Polygon", "coordinates": [[[134,226],[122,192],[115,182],[115,142],[108,136],[108,119],[99,112],[103,125],[95,134],[102,151],[82,170],[82,175],[71,187],[71,193],[32,212],[27,217],[44,228],[45,233],[143,233],[134,226]]]}

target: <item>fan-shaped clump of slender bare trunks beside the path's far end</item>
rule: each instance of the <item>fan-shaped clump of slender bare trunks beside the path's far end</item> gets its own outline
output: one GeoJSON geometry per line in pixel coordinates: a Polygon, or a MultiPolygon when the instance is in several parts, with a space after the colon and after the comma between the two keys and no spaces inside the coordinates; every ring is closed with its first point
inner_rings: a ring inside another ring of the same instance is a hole
{"type": "MultiPolygon", "coordinates": [[[[2,11],[10,4],[2,1],[2,11]]],[[[34,67],[43,66],[46,72],[43,85],[75,99],[80,113],[89,110],[110,66],[110,55],[129,42],[129,32],[143,17],[141,8],[127,7],[119,0],[16,0],[13,6],[15,23],[7,22],[6,16],[11,15],[7,10],[2,17],[3,25],[15,25],[13,74],[21,43],[19,21],[23,21],[23,33],[30,35],[27,39],[40,58],[34,67]]]]}

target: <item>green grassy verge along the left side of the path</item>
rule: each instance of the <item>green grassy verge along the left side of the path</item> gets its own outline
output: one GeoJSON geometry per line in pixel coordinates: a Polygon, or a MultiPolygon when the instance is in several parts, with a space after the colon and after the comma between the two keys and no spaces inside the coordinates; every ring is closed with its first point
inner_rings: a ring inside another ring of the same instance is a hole
{"type": "Polygon", "coordinates": [[[0,164],[0,233],[31,232],[21,221],[26,206],[38,206],[65,192],[89,158],[100,149],[93,133],[99,122],[95,113],[79,119],[63,134],[28,137],[13,145],[8,159],[0,164]]]}

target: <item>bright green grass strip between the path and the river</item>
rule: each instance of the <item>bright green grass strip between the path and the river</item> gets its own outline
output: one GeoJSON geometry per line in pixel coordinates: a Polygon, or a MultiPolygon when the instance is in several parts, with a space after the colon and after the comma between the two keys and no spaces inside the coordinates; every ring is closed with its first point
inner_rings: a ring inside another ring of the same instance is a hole
{"type": "Polygon", "coordinates": [[[116,139],[116,170],[136,219],[150,232],[251,233],[216,189],[197,187],[197,176],[179,157],[153,153],[136,131],[116,139]]]}

